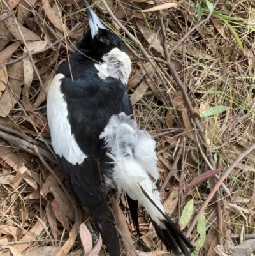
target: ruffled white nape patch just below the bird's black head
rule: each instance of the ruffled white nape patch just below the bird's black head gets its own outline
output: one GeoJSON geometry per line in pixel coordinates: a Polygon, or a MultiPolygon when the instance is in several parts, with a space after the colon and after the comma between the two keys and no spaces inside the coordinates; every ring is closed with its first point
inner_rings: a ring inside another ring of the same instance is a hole
{"type": "Polygon", "coordinates": [[[113,48],[102,59],[104,61],[103,63],[95,64],[96,69],[99,71],[98,76],[104,80],[106,77],[120,79],[126,86],[131,72],[131,60],[128,54],[117,48],[113,48]]]}

